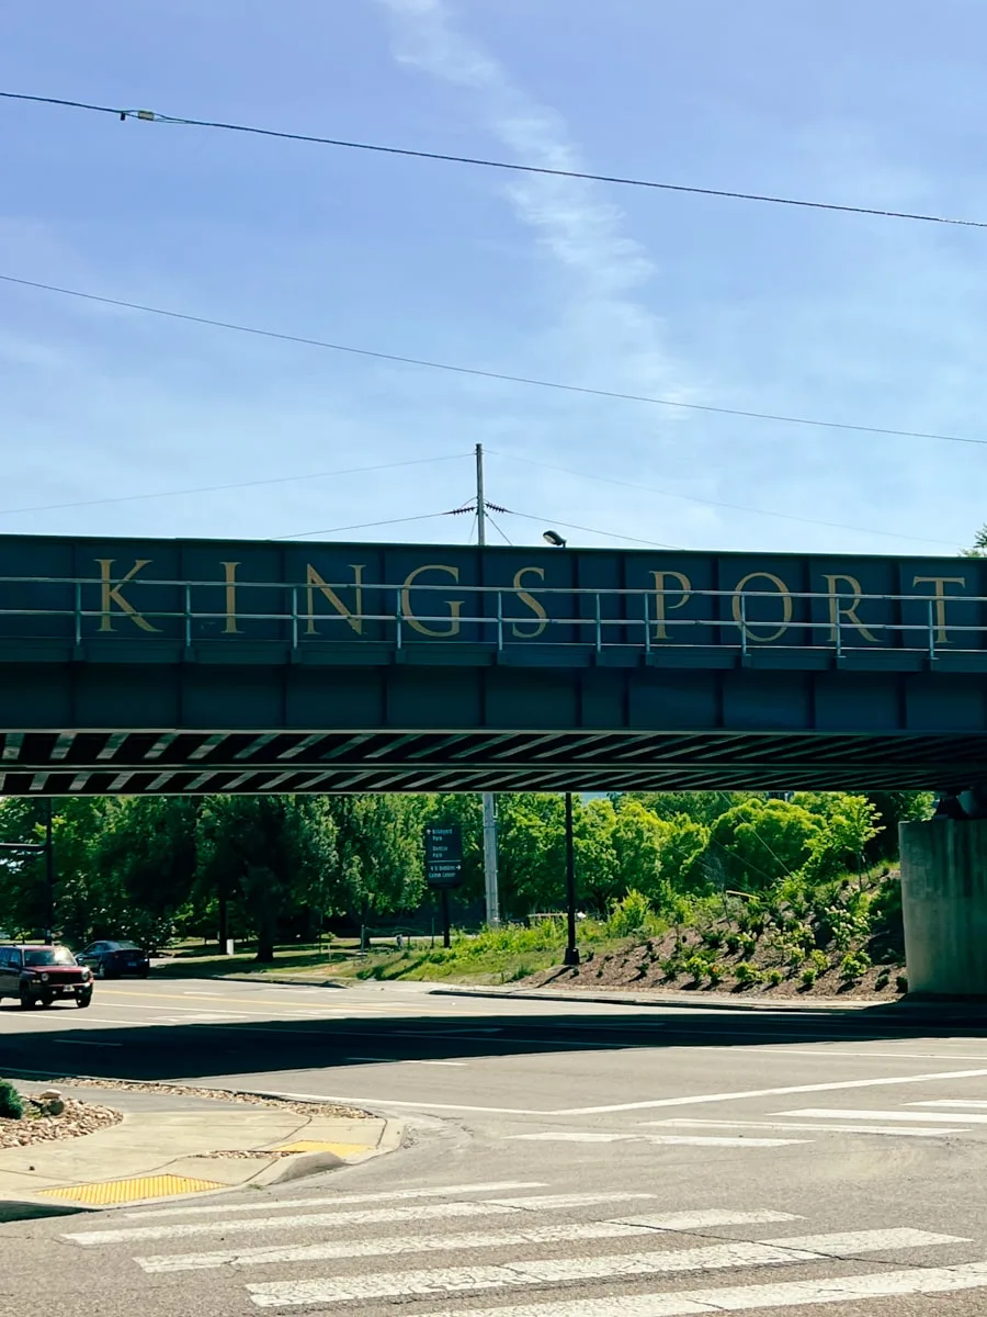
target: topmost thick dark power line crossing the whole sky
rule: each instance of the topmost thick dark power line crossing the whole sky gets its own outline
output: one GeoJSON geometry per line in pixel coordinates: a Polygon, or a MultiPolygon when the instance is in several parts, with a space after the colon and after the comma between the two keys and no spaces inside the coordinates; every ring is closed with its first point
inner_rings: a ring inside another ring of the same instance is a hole
{"type": "Polygon", "coordinates": [[[179,128],[211,128],[226,133],[245,133],[287,142],[309,142],[316,146],[336,146],[379,155],[403,155],[411,159],[441,161],[447,165],[472,165],[480,169],[507,170],[517,174],[542,174],[550,178],[579,179],[587,183],[611,183],[620,187],[642,187],[661,192],[684,192],[694,196],[716,196],[733,202],[761,202],[771,205],[792,205],[809,211],[836,211],[844,215],[871,215],[888,220],[917,220],[923,224],[951,224],[961,228],[987,229],[986,220],[965,220],[945,215],[923,215],[913,211],[892,211],[870,205],[848,205],[838,202],[809,202],[801,198],[774,196],[769,192],[738,192],[721,187],[696,187],[687,183],[663,183],[655,179],[625,178],[619,174],[591,174],[587,170],[550,169],[545,165],[521,165],[517,161],[490,159],[480,155],[453,155],[446,151],[413,150],[407,146],[384,146],[379,142],[358,142],[340,137],[320,137],[315,133],[290,133],[253,124],[226,124],[213,119],[187,119],[176,115],[158,115],[151,109],[120,109],[113,105],[95,105],[82,100],[63,100],[58,96],[29,96],[22,92],[0,91],[7,100],[28,101],[37,105],[55,105],[62,109],[84,109],[116,119],[137,119],[143,122],[168,124],[179,128]]]}

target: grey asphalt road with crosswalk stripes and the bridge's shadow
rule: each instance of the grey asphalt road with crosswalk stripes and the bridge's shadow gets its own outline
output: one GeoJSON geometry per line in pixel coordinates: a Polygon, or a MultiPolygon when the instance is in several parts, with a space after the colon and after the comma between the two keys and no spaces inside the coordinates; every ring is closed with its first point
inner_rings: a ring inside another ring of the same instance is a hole
{"type": "Polygon", "coordinates": [[[807,1013],[161,980],[0,1008],[0,1069],[346,1098],[404,1151],[0,1226],[0,1313],[987,1310],[987,1039],[807,1013]]]}

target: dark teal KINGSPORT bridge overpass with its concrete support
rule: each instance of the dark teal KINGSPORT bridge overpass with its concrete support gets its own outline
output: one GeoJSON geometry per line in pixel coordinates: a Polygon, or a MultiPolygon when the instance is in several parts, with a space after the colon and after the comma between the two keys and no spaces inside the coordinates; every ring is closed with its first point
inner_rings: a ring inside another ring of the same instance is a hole
{"type": "MultiPolygon", "coordinates": [[[[8,795],[986,782],[987,561],[0,537],[8,795]]],[[[909,975],[987,994],[953,813],[909,975]]]]}

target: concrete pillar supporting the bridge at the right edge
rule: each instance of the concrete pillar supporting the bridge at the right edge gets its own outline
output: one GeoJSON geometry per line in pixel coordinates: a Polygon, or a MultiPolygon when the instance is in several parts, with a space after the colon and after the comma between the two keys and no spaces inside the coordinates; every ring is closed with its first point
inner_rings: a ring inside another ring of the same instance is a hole
{"type": "Polygon", "coordinates": [[[903,823],[908,992],[987,997],[987,819],[903,823]]]}

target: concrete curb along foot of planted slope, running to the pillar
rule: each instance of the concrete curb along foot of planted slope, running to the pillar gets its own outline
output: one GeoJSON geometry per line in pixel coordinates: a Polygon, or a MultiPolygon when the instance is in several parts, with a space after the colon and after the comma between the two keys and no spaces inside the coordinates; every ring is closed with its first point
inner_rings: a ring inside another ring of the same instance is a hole
{"type": "Polygon", "coordinates": [[[900,1022],[921,1023],[936,1019],[938,1023],[987,1023],[987,1002],[957,1002],[949,1000],[903,1000],[888,1002],[855,1002],[840,1001],[832,997],[815,1002],[783,1002],[783,1001],[733,1001],[722,997],[691,997],[680,993],[649,994],[644,993],[603,993],[572,988],[567,992],[551,988],[433,988],[433,997],[488,997],[505,998],[513,1001],[553,1001],[553,1002],[594,1002],[605,1006],[650,1006],[666,1010],[728,1010],[761,1014],[790,1014],[803,1017],[820,1015],[854,1015],[861,1018],[861,1023],[900,1022]]]}

